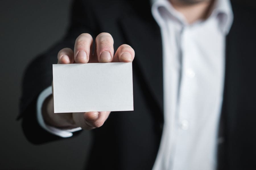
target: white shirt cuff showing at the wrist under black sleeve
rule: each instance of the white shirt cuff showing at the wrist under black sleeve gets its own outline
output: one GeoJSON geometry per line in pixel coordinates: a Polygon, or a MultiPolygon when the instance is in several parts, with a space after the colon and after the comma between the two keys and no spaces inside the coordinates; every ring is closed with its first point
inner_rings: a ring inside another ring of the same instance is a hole
{"type": "Polygon", "coordinates": [[[44,100],[51,94],[52,94],[52,88],[51,88],[51,86],[49,86],[44,91],[42,91],[40,93],[40,95],[38,96],[37,104],[36,104],[36,109],[37,109],[36,118],[37,118],[37,121],[38,121],[39,125],[43,129],[48,131],[49,133],[52,133],[52,134],[57,135],[59,137],[71,137],[73,135],[72,132],[79,131],[82,128],[79,127],[79,128],[74,128],[74,129],[65,129],[65,130],[63,130],[63,129],[55,128],[53,126],[49,126],[49,125],[45,124],[45,122],[44,122],[44,118],[42,116],[42,106],[43,106],[44,100]]]}

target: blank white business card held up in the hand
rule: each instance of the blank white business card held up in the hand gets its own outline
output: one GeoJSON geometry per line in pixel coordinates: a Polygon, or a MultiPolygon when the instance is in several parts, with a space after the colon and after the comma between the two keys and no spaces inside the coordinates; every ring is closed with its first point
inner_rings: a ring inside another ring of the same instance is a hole
{"type": "Polygon", "coordinates": [[[54,113],[133,111],[132,63],[53,64],[54,113]]]}

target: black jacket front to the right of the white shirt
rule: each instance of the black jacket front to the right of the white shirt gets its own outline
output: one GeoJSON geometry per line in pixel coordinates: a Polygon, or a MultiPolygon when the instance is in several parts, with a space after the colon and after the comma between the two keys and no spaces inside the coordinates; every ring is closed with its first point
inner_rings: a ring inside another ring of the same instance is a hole
{"type": "MultiPolygon", "coordinates": [[[[255,161],[255,12],[232,3],[234,22],[226,38],[226,68],[222,105],[225,137],[222,168],[241,169],[255,161]],[[249,142],[248,142],[249,141],[249,142]],[[243,153],[249,154],[243,154],[243,153]],[[243,155],[243,156],[241,156],[243,155]],[[239,160],[239,161],[236,161],[239,160]]],[[[221,169],[221,168],[220,168],[221,169]]]]}

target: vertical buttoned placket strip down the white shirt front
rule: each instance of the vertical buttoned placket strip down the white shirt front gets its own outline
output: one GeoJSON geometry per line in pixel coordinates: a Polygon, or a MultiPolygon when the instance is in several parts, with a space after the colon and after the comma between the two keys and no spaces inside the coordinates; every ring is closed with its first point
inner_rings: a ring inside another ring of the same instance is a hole
{"type": "MultiPolygon", "coordinates": [[[[179,83],[179,95],[177,96],[176,111],[176,147],[174,151],[173,169],[183,169],[184,162],[189,152],[190,134],[193,133],[194,105],[192,103],[196,88],[195,69],[190,61],[191,56],[196,55],[191,46],[191,27],[185,26],[181,32],[182,65],[179,83]]],[[[188,161],[187,161],[188,162],[188,161]]]]}

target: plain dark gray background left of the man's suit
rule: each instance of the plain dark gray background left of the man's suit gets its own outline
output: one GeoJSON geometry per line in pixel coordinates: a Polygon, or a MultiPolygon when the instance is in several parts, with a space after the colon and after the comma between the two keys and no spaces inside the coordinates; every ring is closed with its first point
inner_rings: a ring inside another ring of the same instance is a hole
{"type": "Polygon", "coordinates": [[[90,144],[78,137],[32,145],[16,121],[25,67],[64,35],[70,0],[1,1],[0,5],[0,169],[82,169],[90,144]]]}

